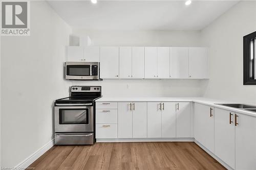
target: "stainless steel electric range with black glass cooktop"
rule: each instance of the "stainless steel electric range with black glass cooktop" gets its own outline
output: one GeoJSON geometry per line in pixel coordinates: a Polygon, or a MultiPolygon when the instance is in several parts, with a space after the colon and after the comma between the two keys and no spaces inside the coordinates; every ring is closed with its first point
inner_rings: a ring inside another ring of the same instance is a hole
{"type": "Polygon", "coordinates": [[[70,96],[55,101],[55,144],[95,142],[95,100],[101,86],[71,86],[70,96]]]}

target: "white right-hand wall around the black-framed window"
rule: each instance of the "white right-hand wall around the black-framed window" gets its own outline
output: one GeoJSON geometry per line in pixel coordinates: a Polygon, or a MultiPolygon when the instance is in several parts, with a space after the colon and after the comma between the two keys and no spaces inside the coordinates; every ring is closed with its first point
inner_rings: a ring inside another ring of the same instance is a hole
{"type": "Polygon", "coordinates": [[[242,1],[201,32],[209,46],[204,96],[256,104],[256,86],[243,85],[243,36],[256,31],[256,2],[242,1]]]}

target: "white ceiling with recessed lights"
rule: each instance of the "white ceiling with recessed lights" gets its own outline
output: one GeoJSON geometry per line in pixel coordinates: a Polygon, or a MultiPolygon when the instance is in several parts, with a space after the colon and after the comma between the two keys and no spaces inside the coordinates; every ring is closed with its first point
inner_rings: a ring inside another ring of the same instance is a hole
{"type": "Polygon", "coordinates": [[[238,1],[48,1],[72,27],[89,30],[201,30],[238,1]]]}

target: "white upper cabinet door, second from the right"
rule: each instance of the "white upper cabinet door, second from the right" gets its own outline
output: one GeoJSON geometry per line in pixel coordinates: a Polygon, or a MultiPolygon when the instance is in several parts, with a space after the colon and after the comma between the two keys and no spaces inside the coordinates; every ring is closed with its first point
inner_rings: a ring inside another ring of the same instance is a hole
{"type": "Polygon", "coordinates": [[[170,48],[170,78],[188,78],[188,47],[170,48]]]}

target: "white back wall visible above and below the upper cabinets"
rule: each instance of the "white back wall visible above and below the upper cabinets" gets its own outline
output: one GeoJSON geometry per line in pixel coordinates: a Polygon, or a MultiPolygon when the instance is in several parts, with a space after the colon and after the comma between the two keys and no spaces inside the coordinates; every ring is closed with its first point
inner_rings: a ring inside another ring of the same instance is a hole
{"type": "MultiPolygon", "coordinates": [[[[76,37],[89,35],[94,45],[200,46],[199,31],[91,31],[74,29],[76,37]]],[[[72,38],[72,37],[71,37],[72,38]]],[[[77,38],[70,45],[79,44],[77,38]]],[[[72,81],[73,85],[101,85],[103,96],[200,96],[205,80],[72,81]],[[128,87],[127,87],[128,86],[128,87]]]]}

